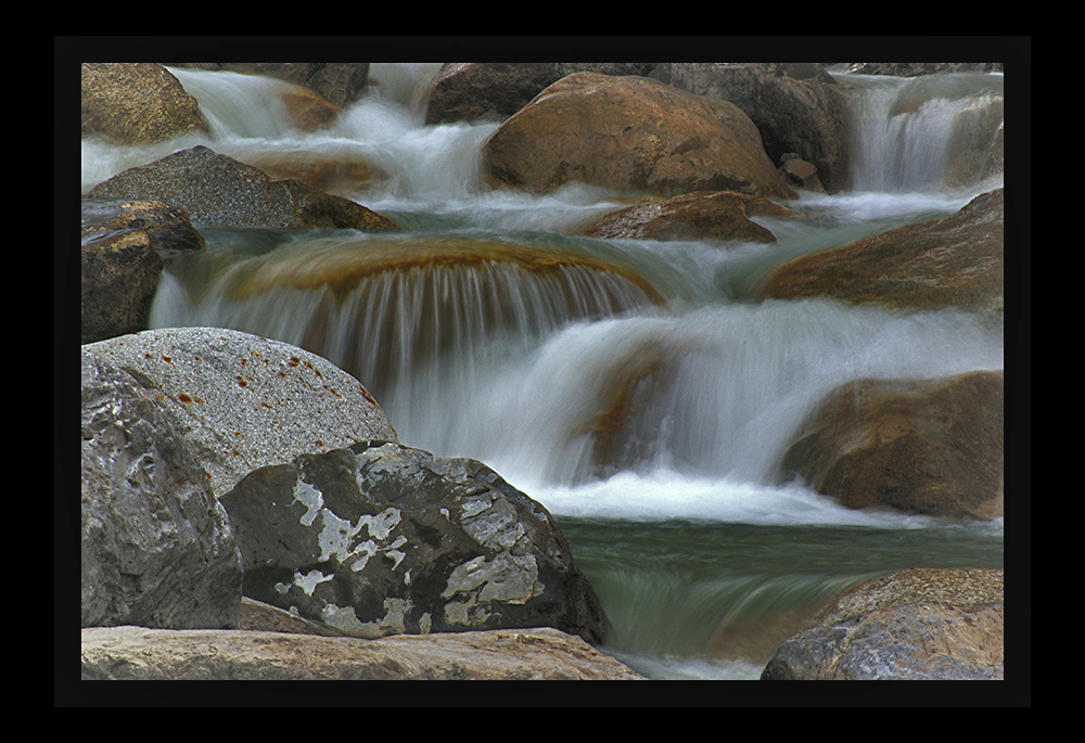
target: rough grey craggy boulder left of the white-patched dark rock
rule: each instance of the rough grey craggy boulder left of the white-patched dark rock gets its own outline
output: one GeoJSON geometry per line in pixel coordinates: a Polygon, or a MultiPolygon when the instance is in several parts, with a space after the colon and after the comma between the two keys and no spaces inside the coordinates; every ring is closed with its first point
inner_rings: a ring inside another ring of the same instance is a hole
{"type": "Polygon", "coordinates": [[[183,428],[84,348],[82,626],[235,628],[241,554],[183,428]]]}

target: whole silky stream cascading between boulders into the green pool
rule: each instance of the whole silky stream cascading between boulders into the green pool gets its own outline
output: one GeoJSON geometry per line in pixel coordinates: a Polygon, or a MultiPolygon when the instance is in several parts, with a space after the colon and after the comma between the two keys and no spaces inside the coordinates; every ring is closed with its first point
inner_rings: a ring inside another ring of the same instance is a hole
{"type": "Polygon", "coordinates": [[[329,190],[404,228],[202,228],[206,249],[168,267],[152,326],[304,346],[366,384],[401,443],[493,466],[557,517],[613,624],[608,652],[652,678],[756,679],[834,591],[906,567],[1003,566],[1000,520],[852,511],[775,477],[828,390],[1001,369],[1000,329],[950,310],[745,298],[791,257],[1000,185],[946,166],[991,137],[1000,75],[838,74],[857,88],[854,185],[757,218],[778,240],[764,245],[577,236],[628,194],[485,188],[480,151],[497,125],[424,125],[437,67],[373,64],[370,94],[312,133],[279,105],[284,84],[171,68],[209,137],[85,142],[85,188],[195,143],[243,162],[365,163],[329,190]]]}

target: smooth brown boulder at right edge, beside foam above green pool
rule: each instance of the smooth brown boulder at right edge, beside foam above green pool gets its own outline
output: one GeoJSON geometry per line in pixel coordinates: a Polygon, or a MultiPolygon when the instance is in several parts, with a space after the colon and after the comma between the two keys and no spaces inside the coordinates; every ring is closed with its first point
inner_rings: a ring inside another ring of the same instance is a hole
{"type": "Polygon", "coordinates": [[[838,387],[800,426],[781,481],[854,508],[1003,515],[1001,371],[838,387]]]}

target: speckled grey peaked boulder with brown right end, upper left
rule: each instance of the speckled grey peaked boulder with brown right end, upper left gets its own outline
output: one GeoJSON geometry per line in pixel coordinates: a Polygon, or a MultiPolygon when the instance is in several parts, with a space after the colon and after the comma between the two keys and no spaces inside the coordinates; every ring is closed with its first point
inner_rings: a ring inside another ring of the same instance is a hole
{"type": "Polygon", "coordinates": [[[387,217],[360,204],[263,170],[197,145],[129,168],[90,194],[105,198],[156,198],[181,207],[195,225],[340,228],[395,231],[387,217]]]}

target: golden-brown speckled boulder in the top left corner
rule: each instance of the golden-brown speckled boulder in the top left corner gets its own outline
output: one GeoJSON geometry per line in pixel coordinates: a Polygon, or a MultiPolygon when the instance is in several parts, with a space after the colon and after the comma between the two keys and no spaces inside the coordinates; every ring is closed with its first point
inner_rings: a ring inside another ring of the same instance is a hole
{"type": "Polygon", "coordinates": [[[196,100],[176,77],[151,62],[85,62],[82,138],[111,144],[154,144],[208,133],[196,100]]]}

